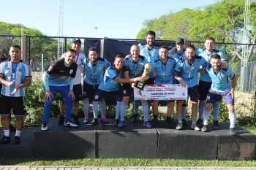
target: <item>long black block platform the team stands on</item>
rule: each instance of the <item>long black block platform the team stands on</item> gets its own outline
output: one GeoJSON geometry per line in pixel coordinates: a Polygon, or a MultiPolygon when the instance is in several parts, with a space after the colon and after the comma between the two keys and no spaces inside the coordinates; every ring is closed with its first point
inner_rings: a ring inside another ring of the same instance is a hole
{"type": "Polygon", "coordinates": [[[41,126],[24,128],[20,145],[0,145],[0,157],[255,159],[255,135],[236,127],[237,135],[230,136],[229,123],[219,123],[219,130],[210,123],[205,133],[191,129],[190,123],[184,130],[176,130],[176,122],[167,127],[165,121],[159,121],[155,128],[148,129],[142,121],[126,120],[124,128],[117,128],[113,120],[92,126],[80,119],[78,128],[66,128],[57,125],[58,120],[50,118],[49,131],[41,131],[41,126]]]}

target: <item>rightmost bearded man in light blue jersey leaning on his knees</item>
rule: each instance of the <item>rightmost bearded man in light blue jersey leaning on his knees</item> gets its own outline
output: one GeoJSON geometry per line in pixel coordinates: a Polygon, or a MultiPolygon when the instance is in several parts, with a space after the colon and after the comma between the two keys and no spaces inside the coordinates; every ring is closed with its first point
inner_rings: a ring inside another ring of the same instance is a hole
{"type": "Polygon", "coordinates": [[[218,54],[211,55],[211,64],[206,67],[206,71],[211,77],[211,90],[208,92],[206,109],[203,113],[203,128],[202,131],[208,131],[208,119],[211,113],[211,108],[216,101],[225,99],[230,118],[230,135],[236,135],[236,112],[234,109],[234,91],[236,88],[237,77],[230,69],[221,69],[221,57],[218,54]],[[233,80],[232,85],[228,81],[233,80]]]}

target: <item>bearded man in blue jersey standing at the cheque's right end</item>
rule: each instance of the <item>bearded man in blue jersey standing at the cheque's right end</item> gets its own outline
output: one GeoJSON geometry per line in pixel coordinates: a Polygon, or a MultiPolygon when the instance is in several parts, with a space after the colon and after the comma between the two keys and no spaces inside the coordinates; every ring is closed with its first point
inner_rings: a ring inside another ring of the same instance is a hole
{"type": "MultiPolygon", "coordinates": [[[[195,55],[195,47],[189,45],[186,48],[186,58],[181,58],[178,61],[175,68],[175,78],[178,80],[182,86],[188,86],[188,94],[190,101],[192,102],[192,125],[191,128],[195,131],[199,131],[200,128],[197,127],[197,101],[198,101],[198,88],[197,88],[197,72],[200,69],[205,68],[208,62],[200,56],[195,55]]],[[[178,101],[178,125],[176,129],[181,129],[182,124],[182,104],[184,101],[178,101]]]]}

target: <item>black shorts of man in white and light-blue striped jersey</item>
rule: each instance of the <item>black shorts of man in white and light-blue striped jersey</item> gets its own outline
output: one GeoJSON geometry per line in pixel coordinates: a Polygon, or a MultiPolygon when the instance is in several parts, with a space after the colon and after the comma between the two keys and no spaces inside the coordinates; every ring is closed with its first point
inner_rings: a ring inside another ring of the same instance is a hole
{"type": "Polygon", "coordinates": [[[23,96],[10,97],[1,95],[0,97],[0,115],[13,115],[23,117],[25,115],[23,96]]]}

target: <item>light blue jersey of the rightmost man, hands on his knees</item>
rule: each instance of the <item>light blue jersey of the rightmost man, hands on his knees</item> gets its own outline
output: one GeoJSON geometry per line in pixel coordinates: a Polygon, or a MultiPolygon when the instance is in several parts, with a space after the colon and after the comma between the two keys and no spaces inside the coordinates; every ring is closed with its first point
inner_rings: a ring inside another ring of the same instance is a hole
{"type": "Polygon", "coordinates": [[[208,64],[206,71],[211,77],[211,89],[218,92],[229,91],[231,90],[230,80],[233,80],[235,74],[230,69],[220,69],[219,72],[215,73],[211,64],[208,64]]]}

